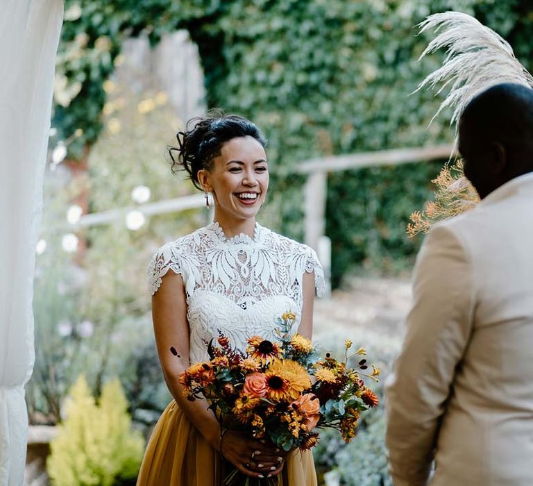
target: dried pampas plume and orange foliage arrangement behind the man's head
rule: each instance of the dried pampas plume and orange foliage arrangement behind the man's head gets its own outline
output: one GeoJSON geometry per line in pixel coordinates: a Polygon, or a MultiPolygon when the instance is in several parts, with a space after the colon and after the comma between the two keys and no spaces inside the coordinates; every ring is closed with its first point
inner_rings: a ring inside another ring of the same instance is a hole
{"type": "MultiPolygon", "coordinates": [[[[446,57],[439,69],[418,85],[418,90],[449,88],[448,95],[432,117],[431,122],[445,109],[452,110],[450,124],[455,126],[455,149],[459,119],[466,105],[480,92],[500,83],[518,83],[533,87],[533,76],[514,56],[509,43],[491,28],[471,15],[462,12],[443,12],[430,15],[418,24],[420,33],[434,30],[437,35],[418,60],[438,49],[446,49],[446,57]]],[[[455,151],[454,149],[454,151],[455,151]]],[[[464,177],[462,161],[452,157],[439,176],[432,181],[434,201],[426,203],[423,211],[415,211],[407,225],[409,236],[427,233],[431,226],[475,207],[477,192],[464,177]]]]}

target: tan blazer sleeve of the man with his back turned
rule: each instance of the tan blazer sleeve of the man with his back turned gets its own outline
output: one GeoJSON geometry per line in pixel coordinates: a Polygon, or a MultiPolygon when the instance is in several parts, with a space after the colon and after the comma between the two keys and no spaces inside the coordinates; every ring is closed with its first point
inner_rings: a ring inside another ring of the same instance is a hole
{"type": "Polygon", "coordinates": [[[413,305],[386,385],[389,471],[396,486],[428,482],[439,421],[468,344],[474,301],[471,262],[448,226],[425,237],[413,305]]]}

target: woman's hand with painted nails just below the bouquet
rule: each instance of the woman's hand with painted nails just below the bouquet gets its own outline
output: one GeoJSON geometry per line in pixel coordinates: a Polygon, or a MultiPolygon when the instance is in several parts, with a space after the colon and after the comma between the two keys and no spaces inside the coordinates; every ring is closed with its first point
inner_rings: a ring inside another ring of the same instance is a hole
{"type": "Polygon", "coordinates": [[[237,430],[228,430],[221,440],[223,458],[253,478],[280,474],[288,454],[271,442],[249,439],[245,433],[237,430]]]}

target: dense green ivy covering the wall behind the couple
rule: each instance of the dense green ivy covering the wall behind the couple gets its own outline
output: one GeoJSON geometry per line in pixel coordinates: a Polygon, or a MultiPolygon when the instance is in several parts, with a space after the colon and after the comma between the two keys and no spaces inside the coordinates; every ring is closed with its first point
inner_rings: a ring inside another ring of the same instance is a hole
{"type": "MultiPolygon", "coordinates": [[[[166,31],[187,28],[201,53],[209,106],[262,127],[274,172],[321,155],[446,142],[446,119],[427,128],[439,99],[409,95],[441,60],[416,62],[428,38],[417,37],[414,25],[444,10],[476,15],[530,67],[533,7],[526,1],[67,0],[58,66],[67,96],[56,97],[54,124],[63,137],[83,129],[71,144],[71,156],[82,157],[101,130],[105,80],[122,40],[149,35],[156,43],[166,31]]],[[[419,241],[407,239],[405,224],[430,197],[439,167],[330,175],[326,227],[335,284],[350,269],[396,273],[412,262],[419,241]]],[[[273,178],[278,229],[294,237],[302,236],[302,184],[296,176],[273,178]]]]}

